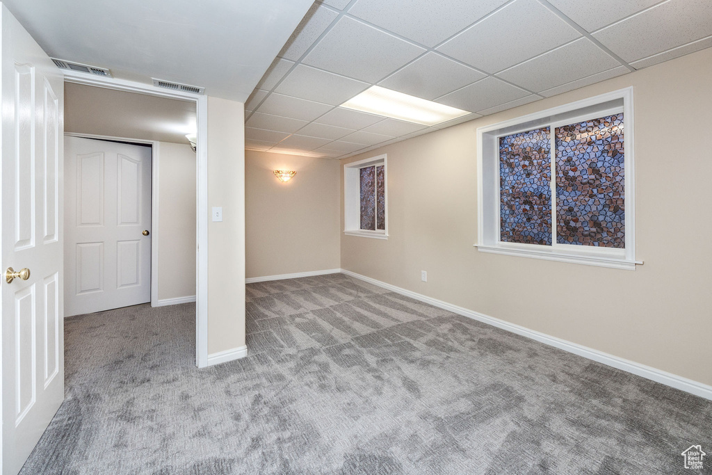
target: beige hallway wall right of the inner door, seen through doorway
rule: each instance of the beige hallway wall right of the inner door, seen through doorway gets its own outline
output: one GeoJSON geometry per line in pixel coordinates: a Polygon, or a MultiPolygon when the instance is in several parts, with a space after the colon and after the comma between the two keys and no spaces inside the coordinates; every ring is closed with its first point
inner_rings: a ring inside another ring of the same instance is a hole
{"type": "Polygon", "coordinates": [[[158,228],[158,300],[194,297],[195,152],[190,145],[161,142],[158,160],[157,223],[153,217],[153,228],[158,228]]]}

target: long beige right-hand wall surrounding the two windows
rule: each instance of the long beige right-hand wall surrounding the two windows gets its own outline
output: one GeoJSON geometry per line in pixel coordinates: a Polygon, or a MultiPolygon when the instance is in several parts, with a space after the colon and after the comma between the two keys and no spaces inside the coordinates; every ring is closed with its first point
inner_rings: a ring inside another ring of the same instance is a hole
{"type": "Polygon", "coordinates": [[[387,241],[342,236],[342,268],[711,385],[710,78],[706,49],[342,160],[388,154],[390,234],[387,241]],[[630,85],[644,266],[478,252],[477,127],[630,85]]]}

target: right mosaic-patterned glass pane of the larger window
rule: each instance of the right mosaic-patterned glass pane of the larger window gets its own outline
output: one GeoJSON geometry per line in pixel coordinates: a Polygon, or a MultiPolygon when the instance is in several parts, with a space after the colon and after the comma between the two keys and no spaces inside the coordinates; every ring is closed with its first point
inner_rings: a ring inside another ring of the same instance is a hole
{"type": "Polygon", "coordinates": [[[555,133],[557,243],[623,249],[623,114],[555,133]]]}

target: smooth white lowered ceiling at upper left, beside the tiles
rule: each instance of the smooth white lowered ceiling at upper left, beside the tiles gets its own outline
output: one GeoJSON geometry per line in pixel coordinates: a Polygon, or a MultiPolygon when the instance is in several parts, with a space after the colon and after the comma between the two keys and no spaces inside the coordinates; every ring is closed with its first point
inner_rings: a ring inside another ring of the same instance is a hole
{"type": "MultiPolygon", "coordinates": [[[[53,58],[244,102],[313,0],[4,0],[53,58]]],[[[265,86],[267,87],[267,86],[265,86]]]]}

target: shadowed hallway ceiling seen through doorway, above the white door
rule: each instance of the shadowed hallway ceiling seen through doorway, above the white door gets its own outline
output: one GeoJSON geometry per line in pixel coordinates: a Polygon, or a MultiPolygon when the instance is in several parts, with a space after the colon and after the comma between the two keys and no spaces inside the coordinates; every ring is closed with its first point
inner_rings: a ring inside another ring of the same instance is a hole
{"type": "Polygon", "coordinates": [[[64,130],[188,145],[197,132],[193,101],[65,83],[64,130]]]}

